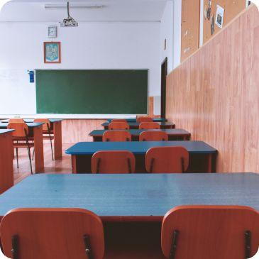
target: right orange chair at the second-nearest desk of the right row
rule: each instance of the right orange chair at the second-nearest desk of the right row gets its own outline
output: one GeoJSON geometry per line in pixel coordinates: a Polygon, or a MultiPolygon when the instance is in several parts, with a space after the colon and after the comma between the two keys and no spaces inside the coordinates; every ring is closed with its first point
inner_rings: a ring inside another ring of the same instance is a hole
{"type": "Polygon", "coordinates": [[[145,154],[145,168],[148,172],[185,172],[189,165],[189,153],[183,147],[150,148],[145,154]]]}

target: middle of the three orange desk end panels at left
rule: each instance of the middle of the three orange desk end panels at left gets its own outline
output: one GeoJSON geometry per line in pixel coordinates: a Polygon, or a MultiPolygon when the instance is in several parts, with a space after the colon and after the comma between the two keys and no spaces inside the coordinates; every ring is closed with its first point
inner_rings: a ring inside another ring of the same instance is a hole
{"type": "Polygon", "coordinates": [[[44,172],[43,126],[33,128],[35,150],[35,173],[44,172]]]}

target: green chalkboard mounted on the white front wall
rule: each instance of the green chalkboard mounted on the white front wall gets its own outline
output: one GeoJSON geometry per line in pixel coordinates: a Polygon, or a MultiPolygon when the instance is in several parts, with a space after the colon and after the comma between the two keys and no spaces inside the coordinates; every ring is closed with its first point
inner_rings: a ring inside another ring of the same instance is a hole
{"type": "Polygon", "coordinates": [[[36,70],[38,114],[148,114],[148,70],[36,70]]]}

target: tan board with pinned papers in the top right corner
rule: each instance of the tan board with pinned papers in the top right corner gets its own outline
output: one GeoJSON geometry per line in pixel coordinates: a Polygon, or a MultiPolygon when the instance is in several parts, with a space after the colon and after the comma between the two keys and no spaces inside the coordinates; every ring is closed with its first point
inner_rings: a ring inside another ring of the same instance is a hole
{"type": "MultiPolygon", "coordinates": [[[[215,24],[217,5],[225,9],[223,23],[223,27],[225,27],[230,21],[233,20],[233,18],[238,15],[238,13],[241,13],[241,11],[246,8],[246,0],[211,0],[211,16],[214,16],[215,27],[214,35],[222,30],[215,24]]],[[[204,0],[204,11],[206,10],[207,6],[209,6],[209,0],[204,0]]],[[[213,35],[211,35],[211,19],[209,21],[207,18],[205,18],[205,15],[203,16],[203,18],[203,41],[204,43],[206,43],[213,35]]]]}

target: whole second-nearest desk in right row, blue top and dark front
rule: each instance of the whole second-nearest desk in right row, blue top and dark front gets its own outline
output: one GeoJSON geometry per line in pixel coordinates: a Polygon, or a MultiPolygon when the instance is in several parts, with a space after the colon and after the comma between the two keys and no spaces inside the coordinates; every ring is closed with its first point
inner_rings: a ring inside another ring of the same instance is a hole
{"type": "Polygon", "coordinates": [[[128,150],[136,157],[136,172],[145,172],[145,153],[149,148],[183,146],[189,151],[187,172],[216,172],[217,150],[202,141],[79,142],[65,153],[72,157],[72,172],[91,172],[92,155],[100,150],[128,150]]]}

